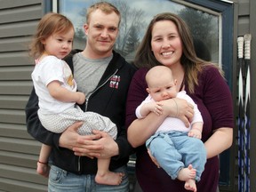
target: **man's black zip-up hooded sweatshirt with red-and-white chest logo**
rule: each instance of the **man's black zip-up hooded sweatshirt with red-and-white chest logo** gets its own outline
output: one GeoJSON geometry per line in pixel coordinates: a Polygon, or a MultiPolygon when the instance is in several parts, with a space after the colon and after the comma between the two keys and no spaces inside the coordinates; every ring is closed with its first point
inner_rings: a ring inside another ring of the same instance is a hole
{"type": "MultiPolygon", "coordinates": [[[[73,55],[81,50],[72,51],[64,60],[73,71],[73,55]]],[[[92,92],[86,106],[80,107],[86,111],[99,113],[101,116],[108,116],[117,126],[116,143],[119,148],[119,155],[111,158],[109,170],[127,164],[133,149],[127,140],[125,124],[125,104],[127,92],[132,76],[136,68],[127,63],[124,58],[113,51],[113,59],[110,60],[108,68],[100,79],[100,83],[92,92]]],[[[28,133],[36,140],[52,147],[50,156],[52,164],[67,172],[76,174],[95,174],[97,172],[97,159],[87,156],[75,156],[72,150],[59,147],[60,133],[47,131],[37,116],[38,98],[33,87],[26,106],[26,121],[28,133]]]]}

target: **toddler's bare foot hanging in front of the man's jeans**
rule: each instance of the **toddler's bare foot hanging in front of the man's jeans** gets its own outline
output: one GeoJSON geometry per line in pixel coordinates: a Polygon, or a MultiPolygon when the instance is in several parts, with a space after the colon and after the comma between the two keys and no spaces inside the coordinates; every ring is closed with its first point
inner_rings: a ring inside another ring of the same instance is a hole
{"type": "Polygon", "coordinates": [[[95,181],[104,185],[120,185],[124,177],[122,172],[105,172],[104,174],[97,173],[95,181]]]}

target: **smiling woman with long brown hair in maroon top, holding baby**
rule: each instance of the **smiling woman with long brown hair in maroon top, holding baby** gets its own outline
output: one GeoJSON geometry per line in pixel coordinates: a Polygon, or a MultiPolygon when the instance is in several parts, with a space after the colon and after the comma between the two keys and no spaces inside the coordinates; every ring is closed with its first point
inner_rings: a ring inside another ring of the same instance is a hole
{"type": "MultiPolygon", "coordinates": [[[[188,26],[175,14],[158,14],[148,25],[135,57],[139,68],[133,76],[128,92],[126,124],[128,140],[137,148],[136,175],[143,191],[187,191],[184,182],[172,180],[163,169],[158,169],[148,155],[145,141],[156,132],[166,116],[177,116],[187,126],[193,113],[181,100],[164,100],[164,114],[150,113],[136,119],[135,108],[147,97],[145,75],[148,68],[164,65],[172,69],[180,90],[185,90],[196,102],[204,119],[202,140],[207,152],[207,163],[197,191],[216,192],[219,181],[218,155],[229,148],[233,140],[233,107],[228,84],[216,65],[196,57],[188,26]],[[188,120],[186,120],[188,119],[188,120]]],[[[178,91],[180,91],[178,90],[178,91]]]]}

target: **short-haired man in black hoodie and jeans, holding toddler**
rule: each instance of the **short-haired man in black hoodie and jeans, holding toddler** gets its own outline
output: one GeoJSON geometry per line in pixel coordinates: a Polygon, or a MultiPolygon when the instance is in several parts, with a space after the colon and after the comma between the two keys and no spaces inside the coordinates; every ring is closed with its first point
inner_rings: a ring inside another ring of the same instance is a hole
{"type": "Polygon", "coordinates": [[[49,191],[129,191],[126,164],[132,147],[124,127],[126,93],[135,72],[122,56],[113,51],[118,35],[120,12],[108,3],[93,4],[87,11],[84,51],[73,51],[66,59],[72,68],[79,92],[86,101],[80,106],[107,116],[117,126],[117,138],[93,131],[78,135],[83,123],[76,123],[61,133],[48,132],[40,123],[38,98],[33,89],[26,106],[28,132],[40,142],[52,146],[49,191]],[[120,185],[99,185],[94,181],[97,158],[111,158],[109,170],[124,172],[120,185]]]}

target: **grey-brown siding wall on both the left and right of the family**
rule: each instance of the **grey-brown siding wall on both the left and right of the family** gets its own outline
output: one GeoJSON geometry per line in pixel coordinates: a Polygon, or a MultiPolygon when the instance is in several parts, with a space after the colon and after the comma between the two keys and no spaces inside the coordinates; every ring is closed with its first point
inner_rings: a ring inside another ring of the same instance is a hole
{"type": "MultiPolygon", "coordinates": [[[[256,71],[256,7],[254,0],[234,0],[233,96],[237,116],[237,45],[236,37],[252,34],[251,74],[256,71]],[[255,64],[254,64],[255,63],[255,64]]],[[[47,180],[36,174],[36,160],[41,144],[28,135],[24,108],[32,82],[34,61],[28,57],[28,43],[38,20],[44,15],[44,0],[1,0],[0,4],[0,191],[46,191],[47,180]]],[[[251,76],[251,108],[253,115],[256,76],[251,76]]],[[[252,116],[253,117],[253,116],[252,116]]],[[[251,120],[251,138],[256,135],[255,118],[251,120]]],[[[231,149],[231,188],[237,191],[237,127],[231,149]]],[[[255,140],[251,140],[251,191],[256,191],[255,140]],[[254,177],[253,177],[254,176],[254,177]]]]}

